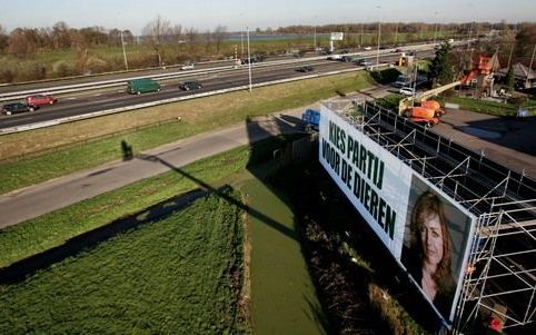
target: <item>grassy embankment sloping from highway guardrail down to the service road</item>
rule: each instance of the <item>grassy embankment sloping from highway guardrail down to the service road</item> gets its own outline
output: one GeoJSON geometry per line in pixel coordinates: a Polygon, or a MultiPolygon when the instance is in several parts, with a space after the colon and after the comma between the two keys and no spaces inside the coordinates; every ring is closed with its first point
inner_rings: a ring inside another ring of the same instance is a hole
{"type": "Polygon", "coordinates": [[[307,106],[336,91],[349,92],[370,85],[366,72],[330,76],[259,88],[252,93],[232,92],[1,136],[0,159],[32,155],[0,165],[0,194],[120,159],[123,140],[136,155],[244,122],[248,117],[307,106]],[[162,124],[150,127],[155,122],[162,124]]]}

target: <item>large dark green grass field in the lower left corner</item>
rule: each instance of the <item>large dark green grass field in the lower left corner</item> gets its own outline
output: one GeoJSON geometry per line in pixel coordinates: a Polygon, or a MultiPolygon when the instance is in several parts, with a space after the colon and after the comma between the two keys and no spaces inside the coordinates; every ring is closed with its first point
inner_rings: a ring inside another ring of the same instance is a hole
{"type": "Polygon", "coordinates": [[[1,334],[240,334],[241,208],[231,189],[0,286],[1,334]]]}

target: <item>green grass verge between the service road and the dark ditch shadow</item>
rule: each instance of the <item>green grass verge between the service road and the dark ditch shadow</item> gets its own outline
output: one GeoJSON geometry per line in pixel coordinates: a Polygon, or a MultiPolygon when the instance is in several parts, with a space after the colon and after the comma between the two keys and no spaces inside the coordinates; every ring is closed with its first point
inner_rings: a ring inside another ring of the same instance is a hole
{"type": "Polygon", "coordinates": [[[82,233],[200,187],[187,176],[209,185],[227,178],[249,165],[270,157],[272,149],[295,137],[267,139],[251,147],[216,155],[186,166],[181,169],[182,174],[165,173],[1,229],[0,267],[60,246],[82,233]]]}

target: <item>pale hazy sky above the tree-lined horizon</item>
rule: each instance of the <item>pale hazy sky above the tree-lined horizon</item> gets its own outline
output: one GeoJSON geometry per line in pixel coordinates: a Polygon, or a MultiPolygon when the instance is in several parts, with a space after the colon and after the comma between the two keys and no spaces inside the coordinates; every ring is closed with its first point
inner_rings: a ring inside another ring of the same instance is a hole
{"type": "Polygon", "coordinates": [[[536,0],[0,0],[0,24],[129,29],[139,35],[158,16],[172,26],[227,31],[360,22],[535,21],[536,0]]]}

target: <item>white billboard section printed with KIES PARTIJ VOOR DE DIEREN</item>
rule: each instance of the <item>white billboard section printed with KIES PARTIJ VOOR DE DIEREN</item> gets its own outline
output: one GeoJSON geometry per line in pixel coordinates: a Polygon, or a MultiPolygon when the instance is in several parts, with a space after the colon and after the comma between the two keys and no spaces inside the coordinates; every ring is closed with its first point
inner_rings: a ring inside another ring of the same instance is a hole
{"type": "Polygon", "coordinates": [[[320,164],[399,259],[411,169],[325,106],[319,144],[320,164]]]}

